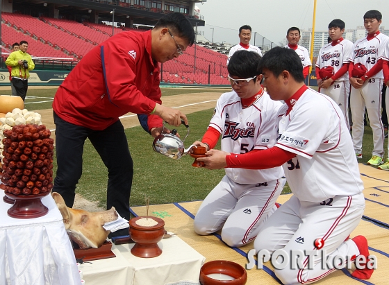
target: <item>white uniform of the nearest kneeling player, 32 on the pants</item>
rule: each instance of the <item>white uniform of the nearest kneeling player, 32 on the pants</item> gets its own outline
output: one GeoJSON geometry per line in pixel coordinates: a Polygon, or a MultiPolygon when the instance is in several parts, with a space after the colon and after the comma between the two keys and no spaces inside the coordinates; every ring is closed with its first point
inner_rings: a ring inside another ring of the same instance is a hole
{"type": "MultiPolygon", "coordinates": [[[[254,241],[254,248],[274,252],[314,250],[315,239],[324,240],[323,250],[333,258],[358,256],[356,244],[345,241],[363,215],[363,183],[352,149],[345,117],[328,96],[304,85],[279,110],[276,147],[295,153],[283,164],[293,196],[281,205],[254,241]]],[[[313,269],[275,270],[283,284],[308,284],[333,270],[315,259],[313,269]]],[[[345,265],[344,265],[345,267],[345,265]]]]}

